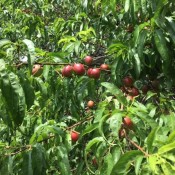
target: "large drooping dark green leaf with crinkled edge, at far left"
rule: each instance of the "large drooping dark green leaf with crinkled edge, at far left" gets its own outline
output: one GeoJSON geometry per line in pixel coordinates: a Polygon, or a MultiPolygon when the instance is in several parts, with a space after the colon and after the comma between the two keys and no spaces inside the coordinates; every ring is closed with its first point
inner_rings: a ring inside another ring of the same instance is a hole
{"type": "Polygon", "coordinates": [[[25,95],[18,77],[5,69],[5,63],[0,60],[0,88],[7,112],[15,125],[19,126],[25,116],[25,95]]]}

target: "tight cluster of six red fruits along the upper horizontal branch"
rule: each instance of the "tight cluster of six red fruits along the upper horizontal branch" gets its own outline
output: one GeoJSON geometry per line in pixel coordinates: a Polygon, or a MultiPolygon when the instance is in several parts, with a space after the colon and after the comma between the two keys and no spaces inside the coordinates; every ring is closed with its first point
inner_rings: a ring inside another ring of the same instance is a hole
{"type": "MultiPolygon", "coordinates": [[[[93,63],[93,58],[91,56],[86,56],[84,58],[84,62],[87,66],[91,66],[93,63]]],[[[88,68],[86,71],[84,64],[75,63],[73,65],[67,65],[62,69],[62,75],[64,77],[71,77],[73,73],[76,75],[84,75],[87,74],[88,77],[98,79],[100,78],[101,70],[109,70],[108,64],[102,64],[100,68],[88,68]]]]}

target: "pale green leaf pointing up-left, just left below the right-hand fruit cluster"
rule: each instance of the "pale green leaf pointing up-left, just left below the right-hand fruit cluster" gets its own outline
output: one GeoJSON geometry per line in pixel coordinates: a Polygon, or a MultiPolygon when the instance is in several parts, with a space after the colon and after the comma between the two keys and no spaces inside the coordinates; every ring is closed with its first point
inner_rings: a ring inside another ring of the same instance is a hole
{"type": "Polygon", "coordinates": [[[102,86],[104,86],[108,92],[111,94],[115,95],[117,100],[122,103],[123,105],[127,106],[127,100],[125,96],[123,95],[122,91],[118,89],[114,84],[108,83],[108,82],[103,82],[101,83],[102,86]]]}

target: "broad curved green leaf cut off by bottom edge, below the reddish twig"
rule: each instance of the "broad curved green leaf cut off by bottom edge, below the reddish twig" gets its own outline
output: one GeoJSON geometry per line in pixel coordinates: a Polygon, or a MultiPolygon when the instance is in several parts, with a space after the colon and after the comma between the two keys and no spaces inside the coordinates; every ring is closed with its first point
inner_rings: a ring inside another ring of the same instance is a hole
{"type": "Polygon", "coordinates": [[[131,166],[131,162],[137,159],[137,156],[143,155],[140,151],[128,151],[123,154],[118,162],[114,165],[112,169],[111,175],[120,175],[126,174],[129,165],[131,166]]]}

